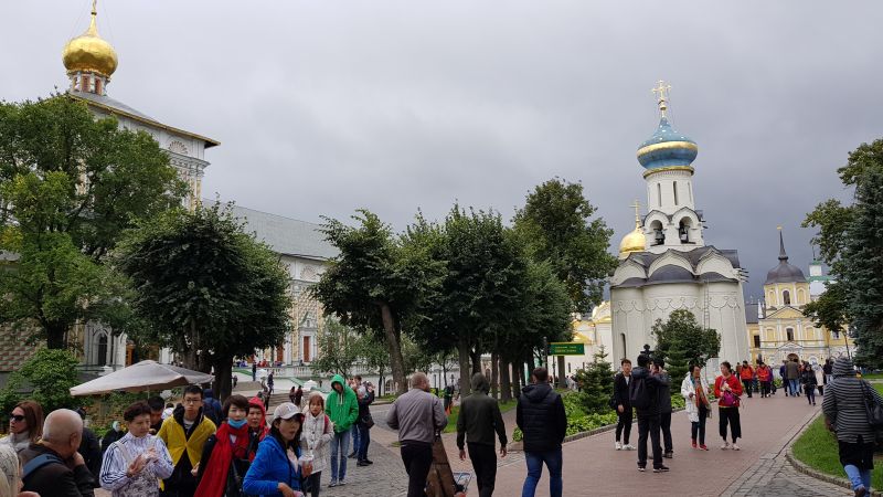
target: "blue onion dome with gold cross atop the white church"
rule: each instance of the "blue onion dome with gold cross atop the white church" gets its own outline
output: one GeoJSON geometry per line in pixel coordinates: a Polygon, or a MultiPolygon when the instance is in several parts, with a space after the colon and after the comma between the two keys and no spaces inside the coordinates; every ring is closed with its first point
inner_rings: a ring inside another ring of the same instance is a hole
{"type": "Polygon", "coordinates": [[[653,88],[653,93],[659,94],[658,104],[662,117],[659,119],[659,127],[653,136],[638,148],[638,162],[648,171],[677,167],[692,170],[691,165],[699,152],[696,142],[672,128],[666,116],[670,88],[671,86],[666,86],[662,82],[659,82],[658,88],[653,88]]]}

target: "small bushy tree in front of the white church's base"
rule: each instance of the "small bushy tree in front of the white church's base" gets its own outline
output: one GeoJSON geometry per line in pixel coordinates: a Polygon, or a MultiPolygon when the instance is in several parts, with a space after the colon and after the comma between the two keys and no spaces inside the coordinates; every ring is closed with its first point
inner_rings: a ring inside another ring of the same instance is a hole
{"type": "Polygon", "coordinates": [[[710,357],[721,350],[721,337],[714,329],[704,329],[688,309],[677,309],[667,321],[657,319],[652,328],[657,340],[656,355],[666,361],[671,378],[687,376],[690,364],[705,367],[710,357]]]}

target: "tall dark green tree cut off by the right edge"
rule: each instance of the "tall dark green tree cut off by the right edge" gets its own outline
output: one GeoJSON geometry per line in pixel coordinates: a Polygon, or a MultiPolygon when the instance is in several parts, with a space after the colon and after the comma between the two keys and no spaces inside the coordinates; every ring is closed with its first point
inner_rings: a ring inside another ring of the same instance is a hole
{"type": "Polygon", "coordinates": [[[826,300],[810,307],[817,321],[850,322],[858,362],[883,366],[883,139],[862,144],[838,169],[854,187],[853,202],[828,200],[807,214],[804,226],[818,230],[813,242],[836,283],[826,300]],[[842,316],[842,318],[838,318],[842,316]]]}

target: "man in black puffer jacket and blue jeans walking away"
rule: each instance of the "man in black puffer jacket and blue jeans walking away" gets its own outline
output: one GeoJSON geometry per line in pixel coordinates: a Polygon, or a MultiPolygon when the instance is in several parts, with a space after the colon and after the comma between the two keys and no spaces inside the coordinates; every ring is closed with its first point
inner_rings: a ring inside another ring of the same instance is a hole
{"type": "Polygon", "coordinates": [[[521,391],[515,408],[515,423],[524,434],[524,459],[528,463],[528,477],[524,478],[521,495],[526,497],[536,493],[545,463],[549,468],[549,494],[561,497],[561,443],[567,431],[564,402],[549,384],[549,371],[545,368],[533,370],[531,383],[521,391]]]}

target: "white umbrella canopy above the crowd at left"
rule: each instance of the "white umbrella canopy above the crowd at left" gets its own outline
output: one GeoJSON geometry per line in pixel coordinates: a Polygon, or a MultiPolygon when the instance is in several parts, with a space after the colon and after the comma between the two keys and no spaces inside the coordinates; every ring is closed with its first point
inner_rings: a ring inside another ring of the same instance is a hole
{"type": "Polygon", "coordinates": [[[73,387],[71,395],[97,395],[120,390],[127,392],[161,391],[188,384],[209,383],[213,380],[212,374],[148,360],[73,387]]]}

